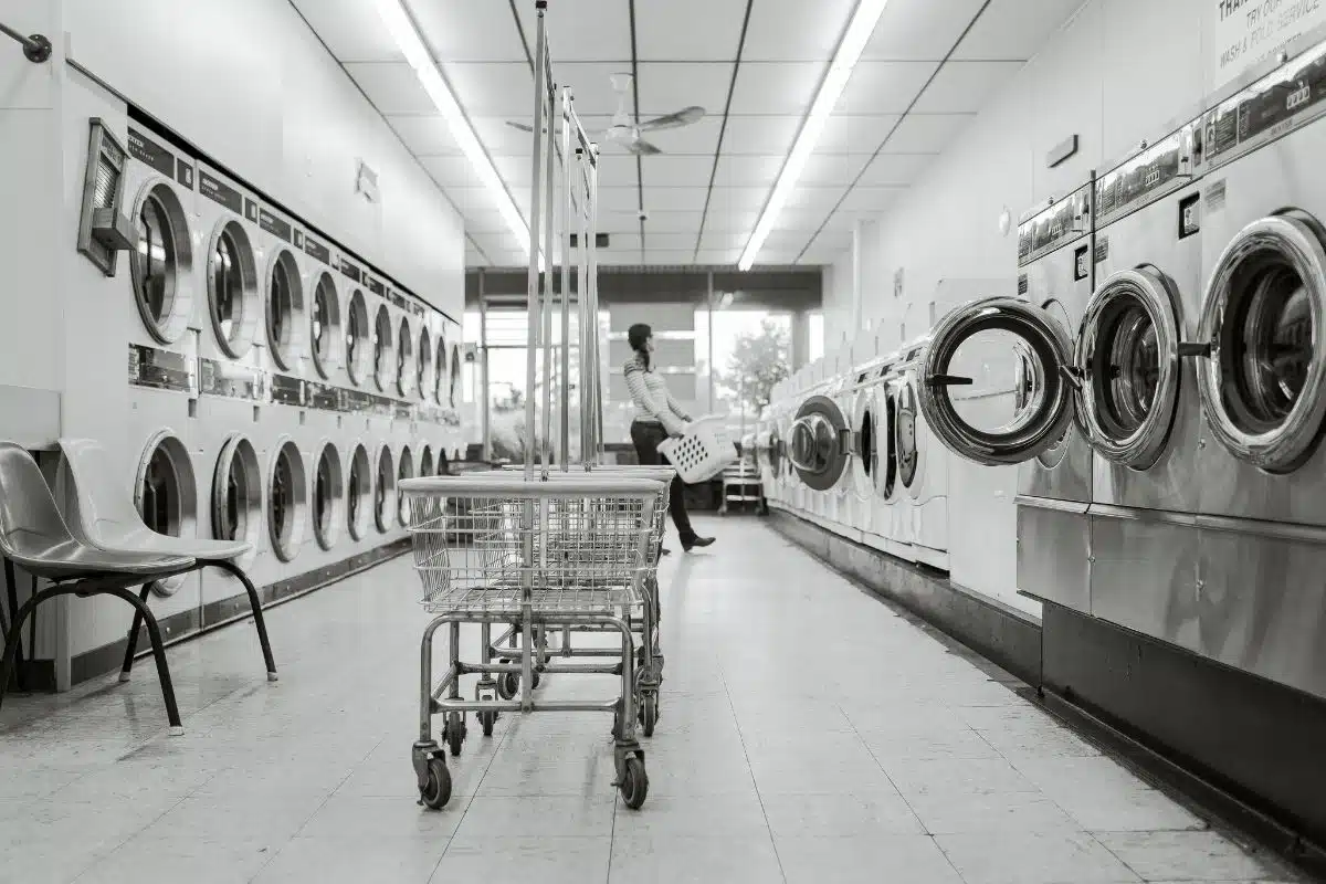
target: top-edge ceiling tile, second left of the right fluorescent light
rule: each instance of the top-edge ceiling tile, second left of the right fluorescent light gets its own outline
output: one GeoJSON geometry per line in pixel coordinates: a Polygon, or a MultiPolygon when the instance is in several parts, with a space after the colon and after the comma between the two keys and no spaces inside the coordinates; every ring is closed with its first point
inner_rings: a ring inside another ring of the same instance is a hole
{"type": "Polygon", "coordinates": [[[639,58],[640,61],[736,61],[744,20],[745,4],[731,0],[636,3],[635,38],[639,58]]]}

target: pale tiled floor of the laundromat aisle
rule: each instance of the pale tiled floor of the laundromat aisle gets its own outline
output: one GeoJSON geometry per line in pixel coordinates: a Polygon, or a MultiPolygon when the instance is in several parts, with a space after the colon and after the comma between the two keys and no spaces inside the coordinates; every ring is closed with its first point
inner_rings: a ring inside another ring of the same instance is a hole
{"type": "Polygon", "coordinates": [[[472,726],[452,803],[415,803],[426,618],[398,559],[272,610],[276,684],[248,624],[172,649],[183,737],[146,664],[7,702],[0,881],[1297,880],[758,521],[704,530],[719,543],[660,573],[667,680],[639,812],[591,714],[472,726]]]}

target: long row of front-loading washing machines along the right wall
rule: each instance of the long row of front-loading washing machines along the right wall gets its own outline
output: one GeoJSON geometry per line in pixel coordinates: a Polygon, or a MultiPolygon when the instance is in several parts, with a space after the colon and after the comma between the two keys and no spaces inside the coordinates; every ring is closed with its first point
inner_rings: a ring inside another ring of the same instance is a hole
{"type": "Polygon", "coordinates": [[[922,436],[1016,465],[1020,592],[1326,697],[1323,117],[1319,30],[1030,212],[1016,294],[781,386],[770,498],[870,542],[922,436]]]}

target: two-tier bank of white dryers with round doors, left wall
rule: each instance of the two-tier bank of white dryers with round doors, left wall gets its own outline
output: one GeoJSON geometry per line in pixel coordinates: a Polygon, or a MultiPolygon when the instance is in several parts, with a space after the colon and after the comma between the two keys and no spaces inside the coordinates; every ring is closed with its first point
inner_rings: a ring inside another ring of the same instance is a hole
{"type": "MultiPolygon", "coordinates": [[[[402,539],[396,482],[463,447],[459,326],[72,78],[62,435],[107,448],[155,530],[251,542],[269,596],[402,539]]],[[[215,569],[154,588],[170,636],[243,611],[215,569]]],[[[118,606],[78,608],[74,655],[123,639],[118,606]]]]}

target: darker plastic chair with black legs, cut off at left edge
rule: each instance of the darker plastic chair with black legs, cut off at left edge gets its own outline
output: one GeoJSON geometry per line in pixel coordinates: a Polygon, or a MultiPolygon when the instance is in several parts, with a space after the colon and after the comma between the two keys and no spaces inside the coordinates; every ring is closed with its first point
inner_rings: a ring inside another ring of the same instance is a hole
{"type": "Polygon", "coordinates": [[[147,603],[127,587],[191,571],[196,567],[192,558],[111,553],[81,543],[60,517],[56,498],[46,486],[37,461],[27,451],[8,441],[0,441],[0,555],[33,577],[50,580],[53,584],[33,592],[9,624],[4,657],[0,659],[0,704],[4,702],[9,687],[23,624],[37,606],[60,595],[78,598],[114,595],[131,604],[138,616],[147,623],[171,733],[184,733],[156,618],[147,608],[147,603]]]}

